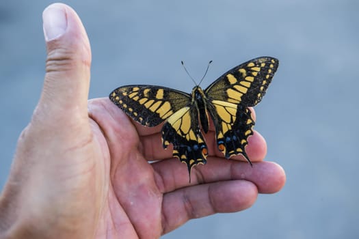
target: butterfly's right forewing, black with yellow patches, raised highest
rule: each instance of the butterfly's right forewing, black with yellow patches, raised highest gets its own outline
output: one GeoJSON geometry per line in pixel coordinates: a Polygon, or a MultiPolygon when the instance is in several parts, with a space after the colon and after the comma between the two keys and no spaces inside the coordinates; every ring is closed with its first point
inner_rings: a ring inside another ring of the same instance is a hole
{"type": "Polygon", "coordinates": [[[265,95],[277,68],[278,59],[258,57],[228,70],[204,92],[214,100],[253,107],[265,95]]]}

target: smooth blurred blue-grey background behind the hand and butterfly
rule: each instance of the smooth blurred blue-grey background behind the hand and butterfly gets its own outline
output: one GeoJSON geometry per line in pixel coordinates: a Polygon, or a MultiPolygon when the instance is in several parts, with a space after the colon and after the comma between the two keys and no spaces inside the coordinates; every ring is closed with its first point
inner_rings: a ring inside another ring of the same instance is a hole
{"type": "MultiPolygon", "coordinates": [[[[254,57],[280,59],[256,107],[267,160],[287,172],[280,193],[243,212],[189,221],[163,238],[358,238],[359,2],[64,1],[92,45],[90,98],[129,83],[206,87],[254,57]]],[[[0,1],[0,188],[42,89],[42,10],[0,1]]]]}

